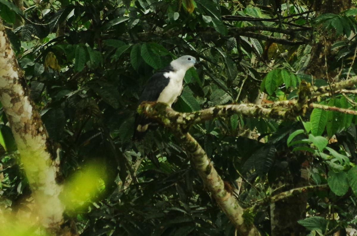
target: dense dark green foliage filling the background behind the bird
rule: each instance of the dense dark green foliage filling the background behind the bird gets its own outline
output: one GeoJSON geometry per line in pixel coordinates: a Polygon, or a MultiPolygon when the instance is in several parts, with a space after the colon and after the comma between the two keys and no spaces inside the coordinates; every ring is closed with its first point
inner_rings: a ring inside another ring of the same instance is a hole
{"type": "MultiPolygon", "coordinates": [[[[173,106],[180,112],[293,99],[302,80],[317,88],[355,76],[356,9],[316,17],[311,1],[276,2],[47,0],[26,1],[21,11],[0,0],[32,99],[61,147],[62,181],[93,160],[105,163],[103,194],[86,199],[85,209],[67,210],[81,235],[234,233],[169,130],[159,127],[132,142],[134,116],[147,79],[181,55],[201,63],[186,73],[173,106]],[[21,18],[25,24],[12,29],[21,18]],[[332,35],[324,78],[305,74],[322,38],[317,29],[332,35]]],[[[315,102],[352,109],[356,98],[345,91],[315,102]]],[[[11,208],[29,188],[4,113],[1,121],[0,203],[11,208]]],[[[227,186],[239,185],[236,197],[253,207],[247,220],[262,232],[271,232],[262,199],[323,184],[329,189],[308,193],[310,217],[299,221],[306,234],[357,227],[353,114],[314,108],[294,120],[233,115],[194,125],[190,133],[227,186]]]]}

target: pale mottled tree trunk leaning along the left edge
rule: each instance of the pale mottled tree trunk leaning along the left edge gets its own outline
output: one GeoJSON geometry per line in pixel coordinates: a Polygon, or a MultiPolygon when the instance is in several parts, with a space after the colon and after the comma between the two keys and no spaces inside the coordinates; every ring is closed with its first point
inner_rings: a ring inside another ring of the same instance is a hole
{"type": "Polygon", "coordinates": [[[62,187],[56,183],[58,162],[14,52],[0,22],[0,102],[24,165],[35,200],[33,223],[44,227],[63,221],[62,187]],[[36,222],[37,221],[37,222],[36,222]]]}

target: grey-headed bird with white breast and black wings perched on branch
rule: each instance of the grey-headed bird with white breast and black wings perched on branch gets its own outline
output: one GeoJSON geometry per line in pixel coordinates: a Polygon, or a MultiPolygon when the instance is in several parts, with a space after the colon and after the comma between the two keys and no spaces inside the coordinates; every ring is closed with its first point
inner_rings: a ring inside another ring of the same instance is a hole
{"type": "MultiPolygon", "coordinates": [[[[170,107],[182,92],[183,77],[186,71],[196,64],[196,58],[192,56],[182,56],[172,61],[169,66],[156,72],[147,81],[144,91],[139,99],[139,104],[144,101],[163,102],[170,107]]],[[[134,140],[144,137],[152,120],[144,116],[136,115],[134,140]]]]}

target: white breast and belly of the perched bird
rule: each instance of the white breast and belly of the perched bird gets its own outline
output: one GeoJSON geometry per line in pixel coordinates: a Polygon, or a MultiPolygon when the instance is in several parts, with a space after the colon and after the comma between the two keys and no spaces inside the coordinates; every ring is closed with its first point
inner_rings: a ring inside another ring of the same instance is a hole
{"type": "Polygon", "coordinates": [[[164,76],[167,79],[170,79],[169,84],[165,87],[165,89],[160,93],[158,102],[164,102],[169,104],[171,107],[172,103],[174,103],[178,96],[180,96],[182,92],[182,81],[185,76],[186,71],[170,71],[165,72],[164,76]]]}

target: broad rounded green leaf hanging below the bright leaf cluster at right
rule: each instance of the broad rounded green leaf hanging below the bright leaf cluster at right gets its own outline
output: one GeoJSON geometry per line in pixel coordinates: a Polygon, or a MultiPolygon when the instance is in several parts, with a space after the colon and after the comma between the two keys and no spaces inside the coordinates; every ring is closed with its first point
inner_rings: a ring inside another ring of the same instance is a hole
{"type": "Polygon", "coordinates": [[[343,196],[347,193],[350,187],[347,180],[347,173],[339,171],[335,173],[334,171],[328,171],[327,184],[331,191],[337,196],[343,196]]]}

